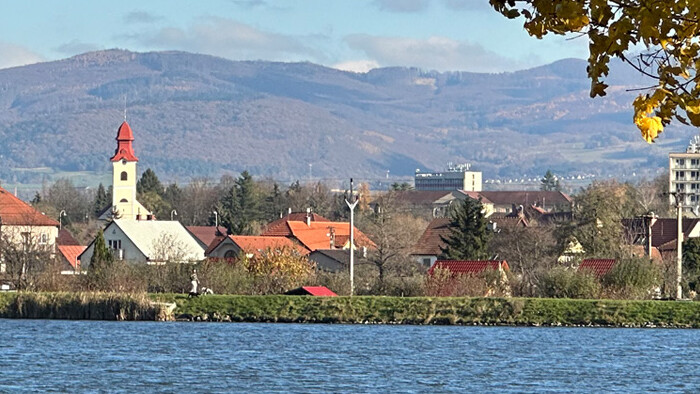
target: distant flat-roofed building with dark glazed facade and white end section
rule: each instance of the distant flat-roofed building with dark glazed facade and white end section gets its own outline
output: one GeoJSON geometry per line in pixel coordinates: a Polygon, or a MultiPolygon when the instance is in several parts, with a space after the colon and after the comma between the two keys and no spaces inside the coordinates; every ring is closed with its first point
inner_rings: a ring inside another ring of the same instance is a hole
{"type": "Polygon", "coordinates": [[[445,172],[421,172],[416,170],[416,190],[465,190],[481,191],[481,171],[471,171],[469,164],[448,164],[445,172]]]}

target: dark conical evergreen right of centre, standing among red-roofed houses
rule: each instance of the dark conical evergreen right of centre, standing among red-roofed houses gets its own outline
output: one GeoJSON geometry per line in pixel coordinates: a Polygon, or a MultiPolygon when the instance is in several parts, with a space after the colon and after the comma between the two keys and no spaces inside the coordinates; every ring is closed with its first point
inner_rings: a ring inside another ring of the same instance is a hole
{"type": "Polygon", "coordinates": [[[440,236],[445,243],[441,259],[482,260],[488,258],[491,231],[482,213],[481,201],[465,198],[450,212],[450,233],[440,236]]]}

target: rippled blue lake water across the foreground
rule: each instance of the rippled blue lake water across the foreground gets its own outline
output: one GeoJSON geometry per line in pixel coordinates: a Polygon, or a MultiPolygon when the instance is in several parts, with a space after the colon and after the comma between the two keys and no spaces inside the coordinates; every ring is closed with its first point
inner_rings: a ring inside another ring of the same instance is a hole
{"type": "Polygon", "coordinates": [[[700,331],[0,320],[0,391],[697,392],[700,331]]]}

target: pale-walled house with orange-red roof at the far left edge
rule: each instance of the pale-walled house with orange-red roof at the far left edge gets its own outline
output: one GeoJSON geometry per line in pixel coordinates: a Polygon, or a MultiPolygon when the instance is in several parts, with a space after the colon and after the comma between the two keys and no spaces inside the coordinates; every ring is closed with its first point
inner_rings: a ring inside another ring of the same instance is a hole
{"type": "MultiPolygon", "coordinates": [[[[59,223],[0,187],[0,238],[21,248],[55,252],[59,223]]],[[[2,256],[0,255],[0,261],[2,256]]],[[[0,272],[5,272],[0,263],[0,272]]]]}

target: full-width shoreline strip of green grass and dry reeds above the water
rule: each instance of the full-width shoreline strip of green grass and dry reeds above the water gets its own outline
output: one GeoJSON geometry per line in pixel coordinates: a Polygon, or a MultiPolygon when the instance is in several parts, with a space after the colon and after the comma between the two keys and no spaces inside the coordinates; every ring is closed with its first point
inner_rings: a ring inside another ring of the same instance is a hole
{"type": "Polygon", "coordinates": [[[379,324],[700,328],[700,302],[548,298],[292,297],[0,293],[0,317],[379,324]],[[173,313],[151,300],[176,303],[173,313]]]}

